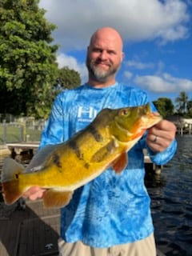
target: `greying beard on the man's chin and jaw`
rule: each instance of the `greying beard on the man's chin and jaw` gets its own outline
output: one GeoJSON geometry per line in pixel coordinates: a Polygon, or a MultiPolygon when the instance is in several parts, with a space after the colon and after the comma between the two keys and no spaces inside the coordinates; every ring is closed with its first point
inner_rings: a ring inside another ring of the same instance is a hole
{"type": "Polygon", "coordinates": [[[86,57],[86,67],[89,71],[90,78],[97,82],[106,82],[108,78],[117,73],[120,68],[120,65],[114,66],[113,64],[107,62],[106,64],[109,66],[108,70],[103,70],[101,67],[97,66],[100,63],[99,59],[90,60],[90,58],[86,57]]]}

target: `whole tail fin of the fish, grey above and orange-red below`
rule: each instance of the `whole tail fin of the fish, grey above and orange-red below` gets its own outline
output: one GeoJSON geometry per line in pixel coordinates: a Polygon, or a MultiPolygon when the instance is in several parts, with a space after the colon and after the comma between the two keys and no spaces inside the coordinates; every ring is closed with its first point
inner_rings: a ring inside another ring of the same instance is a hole
{"type": "Polygon", "coordinates": [[[6,158],[2,166],[2,194],[6,204],[10,205],[21,198],[19,174],[24,167],[12,158],[6,158]]]}

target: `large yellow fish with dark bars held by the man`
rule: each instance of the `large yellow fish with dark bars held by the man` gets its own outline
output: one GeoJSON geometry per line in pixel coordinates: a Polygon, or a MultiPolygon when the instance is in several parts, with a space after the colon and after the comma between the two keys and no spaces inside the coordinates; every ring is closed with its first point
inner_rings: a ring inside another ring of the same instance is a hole
{"type": "MultiPolygon", "coordinates": [[[[97,178],[108,167],[116,174],[128,164],[127,152],[162,117],[142,106],[101,110],[86,128],[66,142],[38,150],[24,168],[12,158],[2,167],[2,193],[10,205],[33,186],[45,188],[45,208],[66,206],[74,190],[97,178]]],[[[142,157],[142,156],[141,156],[142,157]]]]}

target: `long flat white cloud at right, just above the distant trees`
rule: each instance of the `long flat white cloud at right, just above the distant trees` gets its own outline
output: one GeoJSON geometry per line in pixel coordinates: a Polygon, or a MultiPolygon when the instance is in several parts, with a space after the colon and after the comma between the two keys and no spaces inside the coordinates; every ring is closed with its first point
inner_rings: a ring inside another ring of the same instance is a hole
{"type": "Polygon", "coordinates": [[[190,92],[192,90],[191,80],[174,78],[166,73],[162,74],[162,76],[137,76],[134,82],[142,89],[155,93],[178,93],[180,91],[190,92]]]}

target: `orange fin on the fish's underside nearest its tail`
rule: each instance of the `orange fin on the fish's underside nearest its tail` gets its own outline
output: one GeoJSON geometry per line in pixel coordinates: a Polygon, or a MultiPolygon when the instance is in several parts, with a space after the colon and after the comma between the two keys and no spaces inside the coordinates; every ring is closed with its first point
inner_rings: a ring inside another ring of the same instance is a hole
{"type": "Polygon", "coordinates": [[[64,207],[70,202],[73,193],[73,191],[46,190],[43,195],[43,204],[46,208],[64,207]]]}

